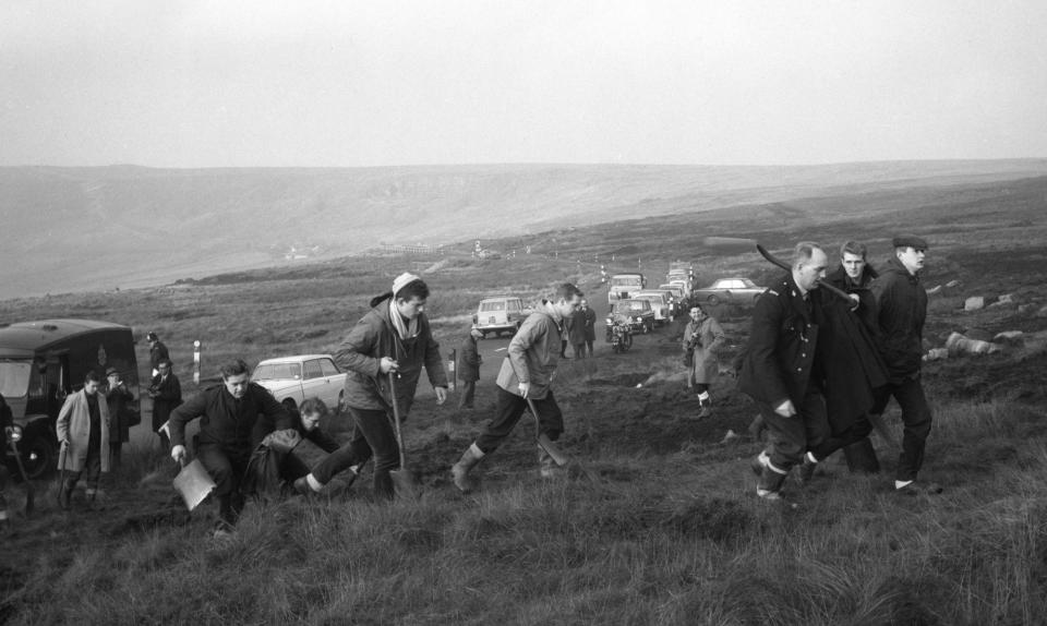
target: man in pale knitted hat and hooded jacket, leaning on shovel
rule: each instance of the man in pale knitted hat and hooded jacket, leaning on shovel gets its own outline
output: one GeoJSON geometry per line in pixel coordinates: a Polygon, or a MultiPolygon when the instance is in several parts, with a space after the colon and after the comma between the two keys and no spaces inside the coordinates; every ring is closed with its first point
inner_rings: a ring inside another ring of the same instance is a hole
{"type": "Polygon", "coordinates": [[[362,467],[374,455],[374,492],[393,498],[392,472],[406,468],[400,467],[390,417],[407,417],[423,366],[436,392],[436,404],[447,399],[440,344],[433,339],[424,312],[428,299],[429,286],[422,279],[413,274],[399,275],[392,291],[371,300],[371,311],[338,347],[335,362],[347,372],[345,404],[352,416],[352,436],[308,475],[294,481],[296,491],[318,492],[336,473],[362,467]]]}

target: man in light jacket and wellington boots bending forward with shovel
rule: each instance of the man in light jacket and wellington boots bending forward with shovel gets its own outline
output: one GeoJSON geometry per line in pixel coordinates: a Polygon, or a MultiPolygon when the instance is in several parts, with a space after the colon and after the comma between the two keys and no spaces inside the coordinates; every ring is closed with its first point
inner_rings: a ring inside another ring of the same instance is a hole
{"type": "MultiPolygon", "coordinates": [[[[559,361],[562,337],[566,337],[565,321],[581,304],[581,297],[577,287],[564,282],[556,288],[554,300],[543,300],[542,306],[524,321],[513,337],[496,381],[498,389],[494,418],[450,468],[455,486],[462,493],[476,489],[476,480],[469,477],[470,470],[509,436],[528,409],[529,401],[539,413],[540,434],[556,441],[564,432],[564,417],[550,386],[559,361]]],[[[556,465],[541,446],[538,448],[538,458],[541,475],[553,478],[556,465]]]]}

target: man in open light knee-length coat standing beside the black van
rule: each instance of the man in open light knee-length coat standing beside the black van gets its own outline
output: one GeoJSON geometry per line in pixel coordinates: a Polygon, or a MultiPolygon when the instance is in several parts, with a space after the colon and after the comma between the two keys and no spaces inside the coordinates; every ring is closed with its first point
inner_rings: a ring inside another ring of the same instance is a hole
{"type": "Polygon", "coordinates": [[[65,398],[55,424],[61,445],[58,469],[63,479],[58,504],[62,510],[71,508],[73,490],[85,472],[87,502],[92,503],[98,493],[101,472],[109,471],[109,407],[98,393],[99,385],[98,374],[88,371],[84,388],[65,398]]]}

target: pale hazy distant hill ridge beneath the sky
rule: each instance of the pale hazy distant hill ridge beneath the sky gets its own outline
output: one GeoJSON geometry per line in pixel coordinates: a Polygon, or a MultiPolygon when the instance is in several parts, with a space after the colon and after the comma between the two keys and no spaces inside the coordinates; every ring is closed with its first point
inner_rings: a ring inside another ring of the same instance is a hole
{"type": "Polygon", "coordinates": [[[827,194],[1047,174],[1047,159],[815,166],[0,168],[0,298],[827,194]],[[315,254],[315,252],[310,252],[315,254]]]}

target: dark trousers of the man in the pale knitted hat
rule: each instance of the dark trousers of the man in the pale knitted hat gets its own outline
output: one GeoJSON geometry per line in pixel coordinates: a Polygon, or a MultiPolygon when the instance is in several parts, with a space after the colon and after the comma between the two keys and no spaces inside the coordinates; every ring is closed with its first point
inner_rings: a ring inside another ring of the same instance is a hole
{"type": "Polygon", "coordinates": [[[363,465],[373,455],[374,493],[392,498],[393,479],[389,472],[400,467],[400,450],[389,417],[381,409],[347,408],[353,421],[352,436],[313,467],[313,478],[321,484],[327,484],[336,473],[354,465],[363,465]]]}

